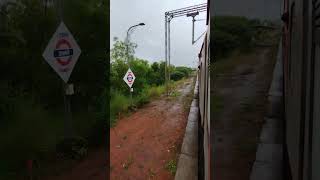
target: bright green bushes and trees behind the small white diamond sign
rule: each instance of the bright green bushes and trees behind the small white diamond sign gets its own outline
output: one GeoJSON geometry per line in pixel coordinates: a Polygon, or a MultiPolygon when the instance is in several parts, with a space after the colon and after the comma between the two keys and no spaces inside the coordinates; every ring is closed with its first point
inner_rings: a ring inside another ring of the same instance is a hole
{"type": "MultiPolygon", "coordinates": [[[[118,39],[115,40],[113,48],[110,52],[111,57],[111,103],[110,103],[110,126],[114,126],[117,120],[117,114],[120,112],[128,112],[135,110],[150,101],[150,98],[160,96],[165,88],[165,62],[154,62],[150,64],[147,60],[134,57],[136,46],[133,44],[125,44],[118,39]],[[125,46],[129,47],[129,56],[127,55],[125,46]],[[125,61],[130,57],[130,68],[136,76],[134,81],[133,106],[129,97],[129,88],[123,82],[123,76],[128,70],[128,63],[125,61]]],[[[171,79],[174,81],[188,77],[192,72],[188,67],[170,66],[171,79]]]]}

